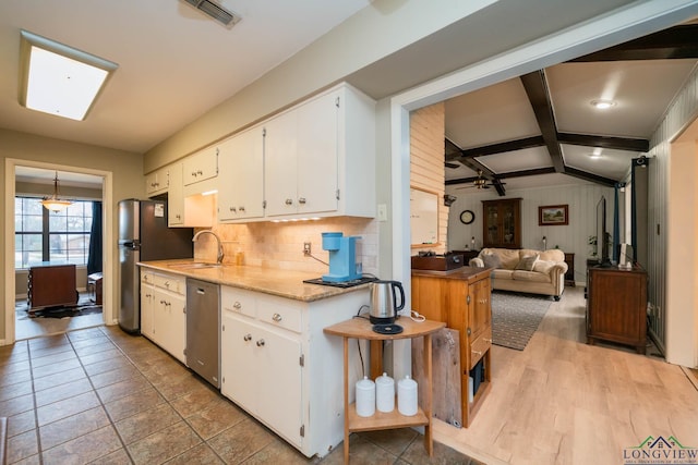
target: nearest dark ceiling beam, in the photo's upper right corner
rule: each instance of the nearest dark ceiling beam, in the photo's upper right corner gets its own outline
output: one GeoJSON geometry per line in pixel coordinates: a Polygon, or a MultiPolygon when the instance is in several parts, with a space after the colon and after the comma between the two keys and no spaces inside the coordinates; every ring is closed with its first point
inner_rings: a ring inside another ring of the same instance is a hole
{"type": "Polygon", "coordinates": [[[698,24],[674,26],[570,62],[698,59],[698,24]]]}

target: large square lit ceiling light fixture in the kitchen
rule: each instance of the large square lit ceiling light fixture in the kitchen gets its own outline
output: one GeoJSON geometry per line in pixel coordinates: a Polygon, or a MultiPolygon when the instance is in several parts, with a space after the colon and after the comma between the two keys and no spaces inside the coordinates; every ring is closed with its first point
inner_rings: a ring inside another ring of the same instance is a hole
{"type": "Polygon", "coordinates": [[[82,121],[119,65],[27,30],[21,32],[20,103],[82,121]]]}

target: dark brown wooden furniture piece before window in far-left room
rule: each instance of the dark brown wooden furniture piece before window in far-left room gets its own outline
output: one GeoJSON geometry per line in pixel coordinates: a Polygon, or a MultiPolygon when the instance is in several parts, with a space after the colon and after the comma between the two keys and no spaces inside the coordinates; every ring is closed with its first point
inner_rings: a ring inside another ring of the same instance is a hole
{"type": "Polygon", "coordinates": [[[77,298],[74,265],[43,265],[29,268],[27,301],[31,310],[75,305],[77,298]]]}

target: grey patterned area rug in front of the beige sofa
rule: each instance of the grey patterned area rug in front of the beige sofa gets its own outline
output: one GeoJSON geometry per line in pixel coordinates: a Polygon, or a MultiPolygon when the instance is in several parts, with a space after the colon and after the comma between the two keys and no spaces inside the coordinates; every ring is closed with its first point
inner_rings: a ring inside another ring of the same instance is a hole
{"type": "Polygon", "coordinates": [[[522,351],[545,316],[551,297],[492,292],[492,343],[522,351]]]}

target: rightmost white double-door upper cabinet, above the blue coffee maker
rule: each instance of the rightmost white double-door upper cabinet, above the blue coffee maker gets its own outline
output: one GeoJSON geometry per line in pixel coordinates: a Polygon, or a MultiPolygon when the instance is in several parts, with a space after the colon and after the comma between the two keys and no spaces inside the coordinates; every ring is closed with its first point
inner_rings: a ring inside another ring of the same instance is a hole
{"type": "Polygon", "coordinates": [[[265,216],[375,216],[375,103],[339,85],[264,123],[265,216]]]}

